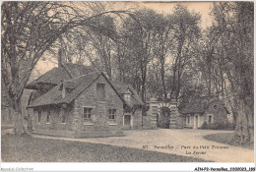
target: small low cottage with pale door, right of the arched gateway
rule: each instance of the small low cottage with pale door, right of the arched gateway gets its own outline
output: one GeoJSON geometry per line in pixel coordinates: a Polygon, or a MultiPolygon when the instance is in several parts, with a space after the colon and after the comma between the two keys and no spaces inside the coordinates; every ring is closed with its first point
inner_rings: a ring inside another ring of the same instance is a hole
{"type": "Polygon", "coordinates": [[[227,123],[228,111],[217,97],[205,96],[191,99],[180,113],[183,115],[185,128],[198,129],[204,123],[227,123]]]}

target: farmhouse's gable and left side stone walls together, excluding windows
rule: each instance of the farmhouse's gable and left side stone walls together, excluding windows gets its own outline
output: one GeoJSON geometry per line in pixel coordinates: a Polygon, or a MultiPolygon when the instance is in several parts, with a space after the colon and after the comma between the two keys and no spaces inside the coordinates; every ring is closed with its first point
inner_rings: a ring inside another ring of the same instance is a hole
{"type": "Polygon", "coordinates": [[[66,109],[61,106],[29,108],[32,114],[32,132],[43,135],[68,138],[123,136],[123,102],[107,81],[100,76],[85,89],[66,109]],[[105,100],[96,100],[96,84],[105,85],[105,100]],[[92,121],[84,122],[84,107],[93,108],[92,121]],[[50,108],[50,123],[46,123],[47,109],[50,108]],[[116,109],[115,120],[108,119],[108,110],[116,109]],[[38,122],[38,111],[41,120],[38,122]],[[66,123],[62,124],[62,113],[66,123]]]}

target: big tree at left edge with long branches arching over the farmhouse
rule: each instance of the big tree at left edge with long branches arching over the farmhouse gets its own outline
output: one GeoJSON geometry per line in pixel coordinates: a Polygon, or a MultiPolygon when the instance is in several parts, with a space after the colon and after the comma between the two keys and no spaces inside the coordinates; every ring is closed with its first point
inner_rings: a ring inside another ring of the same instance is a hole
{"type": "Polygon", "coordinates": [[[53,47],[63,33],[101,15],[100,3],[81,2],[5,2],[2,4],[1,71],[3,91],[15,119],[14,133],[26,129],[21,113],[21,96],[32,70],[42,55],[53,47]]]}

